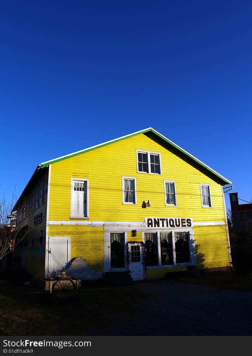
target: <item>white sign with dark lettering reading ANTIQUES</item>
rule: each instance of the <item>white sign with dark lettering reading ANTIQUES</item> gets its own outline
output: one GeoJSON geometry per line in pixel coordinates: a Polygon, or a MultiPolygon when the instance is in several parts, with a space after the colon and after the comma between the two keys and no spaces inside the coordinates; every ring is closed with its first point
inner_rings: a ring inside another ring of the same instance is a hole
{"type": "Polygon", "coordinates": [[[145,218],[145,227],[193,227],[192,218],[145,218]]]}

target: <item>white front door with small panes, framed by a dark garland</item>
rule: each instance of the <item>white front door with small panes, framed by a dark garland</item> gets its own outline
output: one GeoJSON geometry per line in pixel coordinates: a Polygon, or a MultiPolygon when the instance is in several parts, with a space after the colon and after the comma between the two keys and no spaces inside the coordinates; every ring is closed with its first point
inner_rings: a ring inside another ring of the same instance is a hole
{"type": "Polygon", "coordinates": [[[128,269],[133,281],[140,281],[144,277],[143,270],[143,248],[141,245],[128,244],[129,262],[128,269]]]}

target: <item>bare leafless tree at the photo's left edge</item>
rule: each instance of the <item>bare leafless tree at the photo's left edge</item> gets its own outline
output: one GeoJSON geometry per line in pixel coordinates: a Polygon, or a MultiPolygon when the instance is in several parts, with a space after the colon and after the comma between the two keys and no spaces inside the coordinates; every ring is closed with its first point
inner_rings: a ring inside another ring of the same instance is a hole
{"type": "Polygon", "coordinates": [[[27,216],[26,201],[16,201],[15,190],[10,203],[5,197],[0,201],[0,261],[13,250],[15,244],[25,239],[29,230],[27,216]]]}

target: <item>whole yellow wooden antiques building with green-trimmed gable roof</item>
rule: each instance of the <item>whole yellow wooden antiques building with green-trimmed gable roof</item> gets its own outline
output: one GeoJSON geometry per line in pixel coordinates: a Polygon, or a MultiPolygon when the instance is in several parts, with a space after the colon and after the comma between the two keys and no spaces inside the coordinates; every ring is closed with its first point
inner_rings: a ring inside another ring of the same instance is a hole
{"type": "Polygon", "coordinates": [[[229,267],[230,183],[152,128],[43,162],[20,197],[32,210],[22,264],[44,277],[83,257],[134,280],[229,267]]]}

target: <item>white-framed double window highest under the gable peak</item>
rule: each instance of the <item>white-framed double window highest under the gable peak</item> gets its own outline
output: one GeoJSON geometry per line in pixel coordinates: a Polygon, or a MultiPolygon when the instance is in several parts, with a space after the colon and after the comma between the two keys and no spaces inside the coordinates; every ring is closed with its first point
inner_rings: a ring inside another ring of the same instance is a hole
{"type": "Polygon", "coordinates": [[[136,150],[137,173],[162,174],[160,153],[136,150]]]}

